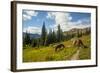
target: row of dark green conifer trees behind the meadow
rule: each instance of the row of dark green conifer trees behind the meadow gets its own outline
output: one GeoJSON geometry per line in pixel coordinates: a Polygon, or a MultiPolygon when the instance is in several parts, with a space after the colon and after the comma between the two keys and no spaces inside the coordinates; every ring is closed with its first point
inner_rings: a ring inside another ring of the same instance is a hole
{"type": "Polygon", "coordinates": [[[40,47],[40,46],[49,46],[50,44],[59,43],[64,40],[70,40],[73,37],[81,37],[82,35],[87,35],[90,33],[89,29],[86,29],[84,33],[82,30],[77,30],[76,33],[73,32],[64,32],[62,31],[60,24],[58,25],[57,31],[55,32],[52,29],[49,29],[49,33],[47,32],[45,22],[43,22],[43,26],[41,29],[41,36],[39,38],[30,38],[30,35],[26,32],[25,37],[23,37],[23,46],[30,45],[32,47],[40,47]]]}

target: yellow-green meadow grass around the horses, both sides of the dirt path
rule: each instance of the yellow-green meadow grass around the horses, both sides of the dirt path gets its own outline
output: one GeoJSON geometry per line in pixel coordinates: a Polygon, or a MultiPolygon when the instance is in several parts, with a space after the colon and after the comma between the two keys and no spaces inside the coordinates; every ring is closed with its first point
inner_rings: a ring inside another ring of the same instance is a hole
{"type": "MultiPolygon", "coordinates": [[[[83,43],[90,47],[90,35],[81,37],[83,43]]],[[[62,60],[70,60],[70,58],[76,53],[79,48],[70,47],[72,46],[72,41],[64,41],[61,42],[65,45],[66,48],[60,50],[59,52],[55,52],[53,46],[40,47],[40,48],[32,48],[27,47],[23,49],[23,62],[43,62],[43,61],[62,61],[62,60]]],[[[82,48],[79,53],[79,59],[90,59],[91,58],[91,49],[90,48],[82,48]]]]}

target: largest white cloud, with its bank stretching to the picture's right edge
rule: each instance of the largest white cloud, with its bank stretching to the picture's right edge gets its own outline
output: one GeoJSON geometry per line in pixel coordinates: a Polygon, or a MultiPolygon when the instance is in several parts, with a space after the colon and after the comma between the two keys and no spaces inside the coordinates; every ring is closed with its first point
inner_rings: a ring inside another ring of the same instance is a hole
{"type": "Polygon", "coordinates": [[[90,27],[90,24],[86,24],[89,22],[88,19],[79,19],[77,21],[72,22],[71,20],[73,19],[70,13],[64,13],[64,12],[48,12],[47,15],[48,19],[54,19],[55,20],[55,25],[52,26],[52,29],[57,31],[57,26],[58,24],[61,26],[61,29],[63,31],[68,31],[72,28],[85,28],[85,27],[90,27]],[[84,23],[86,22],[86,23],[84,23]]]}

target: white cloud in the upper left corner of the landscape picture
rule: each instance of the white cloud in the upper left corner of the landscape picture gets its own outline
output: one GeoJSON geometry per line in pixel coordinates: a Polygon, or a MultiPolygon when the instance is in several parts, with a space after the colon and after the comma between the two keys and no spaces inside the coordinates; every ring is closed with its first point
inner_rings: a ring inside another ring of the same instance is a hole
{"type": "Polygon", "coordinates": [[[37,16],[38,12],[31,11],[31,10],[25,10],[23,14],[23,20],[31,20],[32,16],[37,16]]]}

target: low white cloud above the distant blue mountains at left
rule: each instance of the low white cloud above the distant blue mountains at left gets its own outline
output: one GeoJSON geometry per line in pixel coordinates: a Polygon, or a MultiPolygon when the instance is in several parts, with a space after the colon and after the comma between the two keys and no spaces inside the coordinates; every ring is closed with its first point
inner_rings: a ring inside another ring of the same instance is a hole
{"type": "Polygon", "coordinates": [[[23,29],[23,32],[33,33],[33,34],[41,34],[41,28],[29,26],[23,29]]]}

